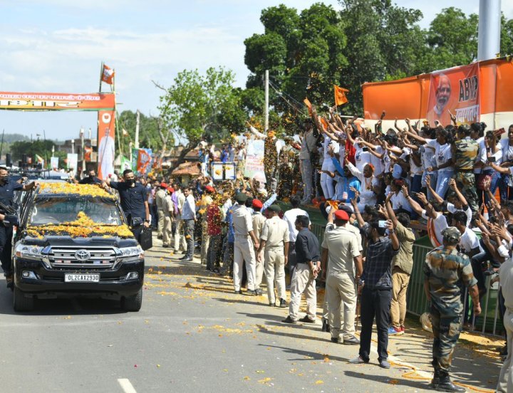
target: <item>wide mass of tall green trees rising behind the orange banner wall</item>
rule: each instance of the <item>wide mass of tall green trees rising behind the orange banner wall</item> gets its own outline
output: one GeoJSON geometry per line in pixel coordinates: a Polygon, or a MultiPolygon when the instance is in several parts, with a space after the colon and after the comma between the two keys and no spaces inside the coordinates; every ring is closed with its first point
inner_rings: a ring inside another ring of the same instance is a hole
{"type": "MultiPolygon", "coordinates": [[[[475,14],[454,7],[442,9],[430,27],[423,29],[418,25],[423,18],[418,9],[390,0],[340,3],[340,13],[324,4],[314,4],[299,14],[284,5],[262,10],[264,34],[244,41],[244,61],[252,72],[247,81],[252,91],[243,93],[244,108],[259,116],[261,95],[257,91],[262,89],[266,69],[271,83],[284,93],[270,90],[271,105],[280,115],[291,111],[284,98],[296,101],[296,107],[301,107],[305,96],[318,105],[333,105],[333,84],[350,90],[349,103],[342,109],[352,114],[362,112],[361,85],[365,82],[428,73],[477,58],[475,14]]],[[[501,36],[502,55],[513,54],[513,20],[504,16],[501,36]]],[[[279,127],[289,125],[281,122],[279,127]]]]}

